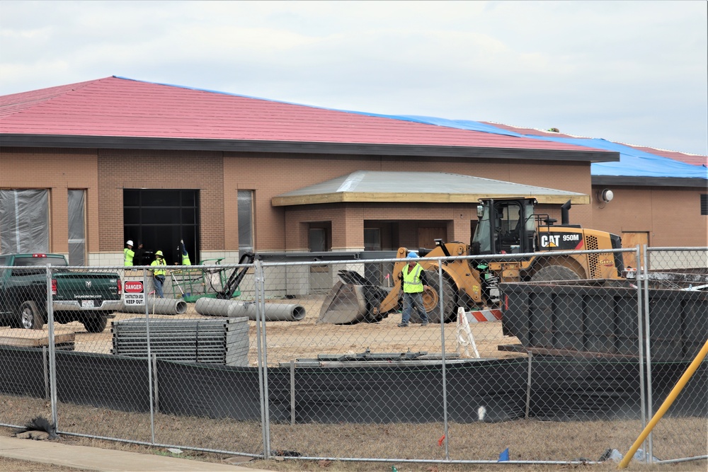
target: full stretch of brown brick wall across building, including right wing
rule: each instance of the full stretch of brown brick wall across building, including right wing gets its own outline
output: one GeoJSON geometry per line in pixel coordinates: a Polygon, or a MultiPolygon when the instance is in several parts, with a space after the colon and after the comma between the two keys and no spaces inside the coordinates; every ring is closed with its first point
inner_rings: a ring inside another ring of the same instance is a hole
{"type": "MultiPolygon", "coordinates": [[[[332,221],[332,247],[362,248],[364,220],[411,219],[399,226],[404,246],[418,246],[417,231],[442,225],[448,240],[469,241],[474,205],[331,204],[273,207],[273,197],[354,171],[433,171],[583,192],[590,205],[571,209],[573,224],[612,231],[649,231],[652,246],[704,246],[708,217],[700,215],[705,189],[613,188],[615,200],[598,204],[588,163],[491,159],[423,159],[406,156],[322,156],[207,151],[2,148],[1,188],[52,190],[51,250],[68,251],[66,191],[86,188],[89,252],[119,252],[124,188],[199,189],[201,251],[238,249],[236,192],[255,191],[257,251],[307,249],[307,222],[332,221]],[[462,217],[460,215],[462,214],[462,217]]],[[[392,185],[396,185],[392,182],[392,185]]],[[[560,221],[554,205],[539,212],[560,221]]]]}

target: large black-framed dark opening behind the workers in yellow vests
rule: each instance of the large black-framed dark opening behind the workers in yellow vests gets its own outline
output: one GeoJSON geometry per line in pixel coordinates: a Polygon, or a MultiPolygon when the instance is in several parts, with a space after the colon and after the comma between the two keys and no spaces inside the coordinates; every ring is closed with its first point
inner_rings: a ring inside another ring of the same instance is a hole
{"type": "Polygon", "coordinates": [[[199,190],[123,190],[123,242],[135,242],[134,265],[150,265],[156,251],[164,253],[168,265],[181,264],[181,240],[192,263],[198,263],[199,220],[199,190]]]}

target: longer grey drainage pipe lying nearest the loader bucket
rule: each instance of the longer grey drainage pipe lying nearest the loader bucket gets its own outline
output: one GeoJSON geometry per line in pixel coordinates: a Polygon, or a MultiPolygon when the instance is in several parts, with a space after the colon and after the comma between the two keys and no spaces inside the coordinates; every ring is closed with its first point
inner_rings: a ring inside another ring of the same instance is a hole
{"type": "MultiPolygon", "coordinates": [[[[256,320],[256,302],[201,298],[194,304],[194,309],[205,316],[248,316],[250,320],[256,320]]],[[[299,304],[267,303],[264,316],[265,321],[300,321],[305,317],[305,309],[299,304]]]]}

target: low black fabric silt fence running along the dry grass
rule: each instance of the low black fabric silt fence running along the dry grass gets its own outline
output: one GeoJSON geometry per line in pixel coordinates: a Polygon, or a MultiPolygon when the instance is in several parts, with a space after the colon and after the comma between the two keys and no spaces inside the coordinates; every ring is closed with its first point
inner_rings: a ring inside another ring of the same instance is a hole
{"type": "MultiPolygon", "coordinates": [[[[689,362],[653,364],[654,410],[689,362]]],[[[523,418],[527,359],[470,361],[447,366],[448,418],[453,422],[523,418]]],[[[157,410],[174,415],[261,420],[256,367],[156,363],[157,410]]],[[[290,421],[290,369],[268,370],[270,419],[290,421]]],[[[708,362],[703,362],[670,415],[704,418],[708,362]]],[[[532,357],[529,416],[545,420],[640,418],[636,360],[532,357]]],[[[0,393],[45,397],[45,363],[36,348],[0,348],[0,393]]],[[[130,412],[149,411],[147,359],[57,352],[59,401],[130,412]]],[[[440,366],[299,367],[297,422],[437,422],[442,420],[440,366]]]]}

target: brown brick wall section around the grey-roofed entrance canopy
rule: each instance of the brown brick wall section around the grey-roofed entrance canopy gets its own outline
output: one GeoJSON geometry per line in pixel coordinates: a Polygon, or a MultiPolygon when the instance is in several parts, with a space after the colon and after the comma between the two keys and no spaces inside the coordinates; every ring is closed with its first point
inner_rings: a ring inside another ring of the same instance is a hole
{"type": "MultiPolygon", "coordinates": [[[[292,231],[297,221],[333,221],[333,248],[358,248],[363,247],[363,235],[360,233],[361,224],[348,225],[355,234],[337,234],[337,219],[356,220],[353,210],[348,207],[345,214],[338,214],[333,205],[331,211],[324,210],[325,217],[313,214],[302,214],[302,209],[295,207],[273,207],[270,201],[273,197],[291,190],[314,185],[332,178],[340,177],[355,171],[428,171],[450,172],[462,175],[476,175],[478,177],[510,180],[517,183],[539,185],[542,187],[558,188],[573,192],[590,192],[590,164],[589,163],[560,163],[556,161],[512,161],[509,159],[492,161],[467,159],[424,159],[421,157],[406,156],[322,156],[320,154],[298,155],[290,157],[285,154],[272,153],[227,153],[224,156],[224,197],[229,195],[229,200],[235,200],[238,189],[256,190],[256,209],[254,226],[256,233],[256,249],[258,251],[296,251],[307,248],[307,238],[302,241],[302,229],[292,231]],[[556,185],[557,184],[557,185],[556,185]],[[296,212],[298,215],[296,216],[296,212]],[[287,216],[286,216],[287,215],[287,216]],[[287,235],[286,235],[287,232],[287,235]],[[295,233],[295,234],[293,234],[295,233]],[[297,234],[297,236],[296,236],[297,234]],[[292,242],[292,244],[291,244],[292,242]]],[[[395,185],[392,182],[392,185],[395,185]]],[[[227,200],[227,202],[229,201],[227,200]]],[[[452,221],[453,215],[462,208],[467,224],[459,225],[455,220],[455,234],[448,234],[448,238],[457,241],[469,241],[469,219],[476,219],[474,208],[465,209],[464,205],[435,205],[431,210],[424,205],[408,205],[396,207],[383,214],[370,214],[373,208],[361,204],[362,219],[440,219],[452,221]],[[442,212],[442,213],[441,213],[442,212]],[[470,216],[472,215],[472,216],[470,216]],[[462,229],[462,228],[466,229],[462,229]],[[459,229],[458,229],[459,228],[459,229]]],[[[227,203],[228,207],[228,203],[227,203]]],[[[590,221],[590,209],[583,208],[588,205],[578,205],[573,208],[573,216],[578,224],[590,221]]],[[[312,212],[312,207],[307,207],[312,212]]],[[[558,218],[559,218],[558,212],[558,218]]],[[[227,241],[238,238],[237,222],[233,215],[224,217],[224,224],[230,229],[226,236],[227,241]]],[[[306,225],[307,226],[307,225],[306,225]]],[[[305,231],[307,234],[307,231],[305,231]]],[[[448,231],[450,233],[450,231],[448,231]]],[[[401,238],[409,237],[408,231],[401,231],[401,238]]],[[[228,247],[227,247],[228,248],[228,247]]]]}

